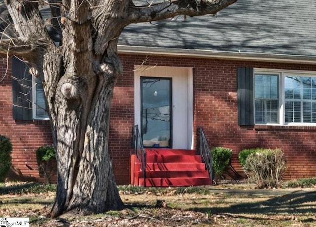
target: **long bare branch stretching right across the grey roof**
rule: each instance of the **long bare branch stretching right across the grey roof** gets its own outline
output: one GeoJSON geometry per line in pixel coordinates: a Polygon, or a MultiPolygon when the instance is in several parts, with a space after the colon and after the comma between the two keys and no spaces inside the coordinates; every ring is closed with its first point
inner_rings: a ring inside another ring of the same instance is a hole
{"type": "Polygon", "coordinates": [[[177,15],[201,16],[215,14],[237,0],[168,0],[145,6],[130,6],[126,23],[150,22],[177,15]]]}

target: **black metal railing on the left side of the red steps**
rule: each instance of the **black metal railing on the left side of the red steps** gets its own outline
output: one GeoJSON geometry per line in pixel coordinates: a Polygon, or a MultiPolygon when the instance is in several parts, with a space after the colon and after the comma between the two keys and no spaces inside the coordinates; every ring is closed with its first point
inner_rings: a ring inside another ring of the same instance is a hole
{"type": "Polygon", "coordinates": [[[144,178],[144,187],[146,187],[146,151],[143,146],[143,141],[138,129],[138,125],[133,127],[133,147],[134,154],[136,154],[137,159],[140,162],[140,168],[143,172],[144,178]]]}

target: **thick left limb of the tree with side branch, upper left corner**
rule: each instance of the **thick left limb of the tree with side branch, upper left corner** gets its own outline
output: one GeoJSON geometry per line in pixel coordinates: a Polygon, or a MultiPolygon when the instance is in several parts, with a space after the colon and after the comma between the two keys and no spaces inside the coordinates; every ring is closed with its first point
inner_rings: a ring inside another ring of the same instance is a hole
{"type": "Polygon", "coordinates": [[[43,76],[43,55],[54,43],[49,37],[39,11],[38,1],[5,0],[9,12],[8,22],[14,29],[3,31],[0,41],[0,52],[9,56],[21,56],[30,66],[34,76],[43,76]],[[13,31],[13,37],[10,34],[13,31]]]}

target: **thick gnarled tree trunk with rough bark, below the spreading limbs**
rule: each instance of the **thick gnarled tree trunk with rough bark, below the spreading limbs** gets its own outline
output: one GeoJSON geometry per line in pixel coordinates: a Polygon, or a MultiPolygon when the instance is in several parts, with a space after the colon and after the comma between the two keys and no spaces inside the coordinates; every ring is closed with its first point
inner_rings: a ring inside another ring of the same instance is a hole
{"type": "MultiPolygon", "coordinates": [[[[116,43],[110,44],[108,53],[115,46],[116,43]]],[[[52,216],[73,209],[84,214],[121,209],[124,205],[108,152],[110,105],[121,70],[120,61],[112,52],[110,57],[94,62],[91,67],[91,59],[85,59],[89,55],[81,54],[76,59],[73,56],[63,69],[63,57],[50,51],[44,58],[47,77],[44,90],[50,107],[58,165],[52,216]],[[81,65],[75,67],[75,62],[81,65]],[[56,78],[51,74],[60,75],[58,81],[50,81],[56,78]]]]}

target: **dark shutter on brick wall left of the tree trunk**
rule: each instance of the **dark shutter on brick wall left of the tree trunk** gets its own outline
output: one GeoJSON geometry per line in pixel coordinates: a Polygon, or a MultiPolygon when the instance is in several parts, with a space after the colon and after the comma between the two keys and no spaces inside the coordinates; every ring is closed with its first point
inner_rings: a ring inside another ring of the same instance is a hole
{"type": "Polygon", "coordinates": [[[32,120],[32,75],[29,67],[12,58],[13,119],[32,120]]]}

